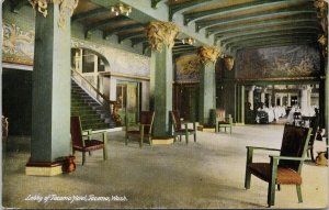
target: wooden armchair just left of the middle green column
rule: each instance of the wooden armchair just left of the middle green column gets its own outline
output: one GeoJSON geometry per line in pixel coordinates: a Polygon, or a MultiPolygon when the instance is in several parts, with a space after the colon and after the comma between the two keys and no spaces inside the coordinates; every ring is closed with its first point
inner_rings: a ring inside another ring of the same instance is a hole
{"type": "Polygon", "coordinates": [[[126,123],[126,145],[128,144],[129,137],[139,137],[139,146],[143,147],[144,140],[146,139],[148,143],[152,144],[152,125],[155,120],[154,111],[141,111],[140,122],[138,130],[131,130],[129,123],[126,123]]]}

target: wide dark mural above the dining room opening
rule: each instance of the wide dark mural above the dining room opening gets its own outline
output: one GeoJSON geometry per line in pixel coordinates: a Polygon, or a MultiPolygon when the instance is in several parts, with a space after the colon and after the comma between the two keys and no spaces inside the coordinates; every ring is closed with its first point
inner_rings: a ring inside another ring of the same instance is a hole
{"type": "Polygon", "coordinates": [[[308,77],[320,74],[320,53],[311,46],[242,51],[236,59],[238,78],[308,77]]]}

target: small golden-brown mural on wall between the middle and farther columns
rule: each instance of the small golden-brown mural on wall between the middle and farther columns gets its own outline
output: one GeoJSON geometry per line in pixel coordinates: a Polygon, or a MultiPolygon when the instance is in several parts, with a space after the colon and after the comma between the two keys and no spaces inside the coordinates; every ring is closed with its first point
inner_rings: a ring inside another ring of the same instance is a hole
{"type": "Polygon", "coordinates": [[[201,62],[197,55],[185,55],[175,59],[177,81],[198,81],[201,62]]]}

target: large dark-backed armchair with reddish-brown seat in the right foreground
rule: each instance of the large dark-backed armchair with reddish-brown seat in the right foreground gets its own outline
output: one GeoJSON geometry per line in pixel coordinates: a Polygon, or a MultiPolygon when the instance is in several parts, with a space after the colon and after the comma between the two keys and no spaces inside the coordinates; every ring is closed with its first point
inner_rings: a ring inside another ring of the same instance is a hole
{"type": "Polygon", "coordinates": [[[281,150],[247,146],[245,188],[250,188],[251,175],[269,183],[268,205],[274,205],[275,186],[296,185],[298,201],[302,199],[302,166],[305,159],[311,129],[286,124],[284,126],[281,150]],[[270,163],[252,163],[253,151],[279,151],[280,155],[270,155],[270,163]]]}

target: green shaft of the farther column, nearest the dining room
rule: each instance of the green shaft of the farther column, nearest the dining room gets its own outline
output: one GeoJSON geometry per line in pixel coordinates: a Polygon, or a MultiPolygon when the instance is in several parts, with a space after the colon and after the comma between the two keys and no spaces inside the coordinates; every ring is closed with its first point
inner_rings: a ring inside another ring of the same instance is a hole
{"type": "Polygon", "coordinates": [[[215,64],[207,63],[200,69],[198,122],[206,125],[209,110],[216,109],[215,64]]]}

